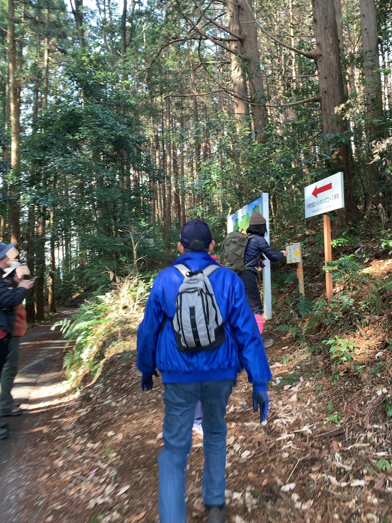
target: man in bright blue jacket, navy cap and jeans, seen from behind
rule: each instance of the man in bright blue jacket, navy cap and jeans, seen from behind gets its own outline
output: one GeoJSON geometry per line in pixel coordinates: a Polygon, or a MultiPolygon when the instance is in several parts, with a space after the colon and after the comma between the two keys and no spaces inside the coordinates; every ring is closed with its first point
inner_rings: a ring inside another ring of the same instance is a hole
{"type": "Polygon", "coordinates": [[[190,271],[219,265],[212,257],[215,242],[208,225],[187,222],[180,235],[180,256],[161,271],[149,295],[144,320],[137,331],[137,368],[142,389],[151,390],[156,369],[165,386],[164,447],[158,455],[159,521],[185,523],[185,469],[192,444],[195,406],[203,405],[204,469],[202,495],[207,523],[225,520],[226,405],[237,374],[243,367],[253,383],[253,409],[260,420],[268,412],[267,381],[271,376],[261,336],[245,296],[243,282],[234,271],[220,267],[209,277],[221,312],[225,340],[198,352],[180,351],[172,320],[183,276],[174,267],[190,271]]]}

